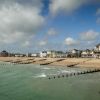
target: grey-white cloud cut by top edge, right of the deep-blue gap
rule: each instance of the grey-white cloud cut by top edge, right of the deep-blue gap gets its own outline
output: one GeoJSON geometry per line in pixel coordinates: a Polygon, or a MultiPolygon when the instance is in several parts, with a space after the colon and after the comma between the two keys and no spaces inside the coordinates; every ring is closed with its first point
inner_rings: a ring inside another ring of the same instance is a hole
{"type": "Polygon", "coordinates": [[[49,9],[53,15],[56,15],[61,11],[70,13],[85,4],[87,1],[88,0],[51,0],[49,9]]]}

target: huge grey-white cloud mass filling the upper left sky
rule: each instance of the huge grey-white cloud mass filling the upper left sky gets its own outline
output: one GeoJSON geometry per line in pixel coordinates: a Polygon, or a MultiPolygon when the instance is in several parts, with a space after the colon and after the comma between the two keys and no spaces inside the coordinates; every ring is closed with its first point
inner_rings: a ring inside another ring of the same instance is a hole
{"type": "Polygon", "coordinates": [[[0,43],[25,41],[44,23],[44,17],[40,15],[40,0],[32,3],[37,6],[17,1],[0,1],[0,43]]]}

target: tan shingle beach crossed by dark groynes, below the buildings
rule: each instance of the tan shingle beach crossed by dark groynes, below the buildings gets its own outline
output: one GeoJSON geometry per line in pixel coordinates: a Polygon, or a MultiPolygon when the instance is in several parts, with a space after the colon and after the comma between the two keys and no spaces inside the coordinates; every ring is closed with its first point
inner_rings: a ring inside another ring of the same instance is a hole
{"type": "Polygon", "coordinates": [[[15,64],[40,64],[71,68],[100,68],[100,59],[95,58],[0,57],[0,61],[11,62],[15,64]]]}

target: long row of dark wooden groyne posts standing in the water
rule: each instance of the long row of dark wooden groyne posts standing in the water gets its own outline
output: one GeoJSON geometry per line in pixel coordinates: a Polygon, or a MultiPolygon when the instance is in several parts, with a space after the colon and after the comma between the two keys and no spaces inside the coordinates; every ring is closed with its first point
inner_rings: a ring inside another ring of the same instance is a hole
{"type": "Polygon", "coordinates": [[[61,73],[59,75],[50,75],[50,76],[48,76],[48,79],[71,77],[71,76],[90,74],[90,73],[96,73],[96,72],[100,72],[100,69],[92,69],[92,70],[90,69],[90,70],[84,70],[84,71],[80,71],[80,72],[61,73]]]}

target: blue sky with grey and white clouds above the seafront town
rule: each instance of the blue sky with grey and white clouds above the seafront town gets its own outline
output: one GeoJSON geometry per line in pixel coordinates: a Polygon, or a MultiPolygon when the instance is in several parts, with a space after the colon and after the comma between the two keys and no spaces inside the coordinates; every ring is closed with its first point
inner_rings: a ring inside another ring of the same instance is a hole
{"type": "Polygon", "coordinates": [[[94,48],[100,0],[0,0],[0,51],[94,48]]]}

